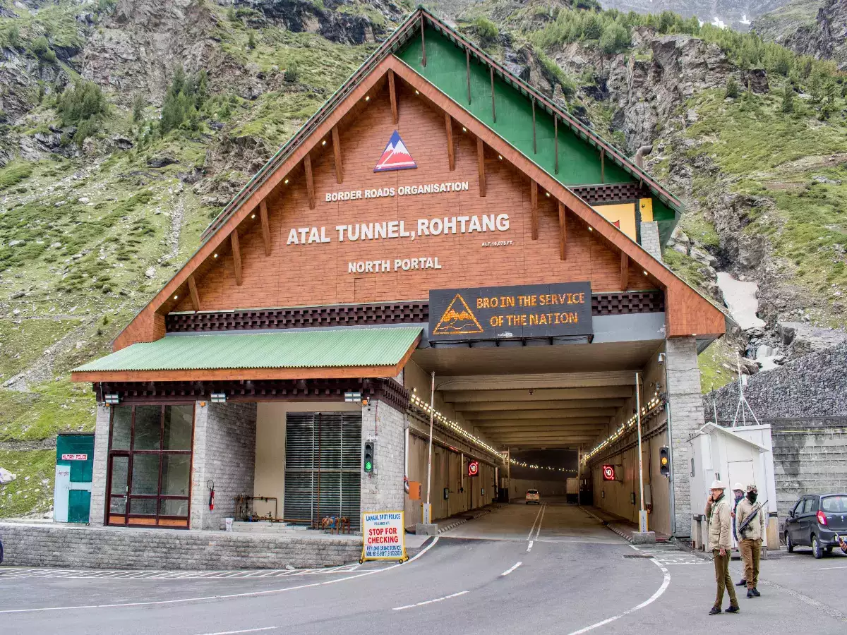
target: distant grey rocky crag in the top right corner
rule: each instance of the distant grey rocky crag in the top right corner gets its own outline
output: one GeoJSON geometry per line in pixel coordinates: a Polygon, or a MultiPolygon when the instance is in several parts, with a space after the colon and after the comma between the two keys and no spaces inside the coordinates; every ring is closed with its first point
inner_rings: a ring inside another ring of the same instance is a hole
{"type": "Polygon", "coordinates": [[[843,0],[794,0],[757,18],[752,30],[794,52],[833,59],[847,70],[847,3],[843,0]]]}

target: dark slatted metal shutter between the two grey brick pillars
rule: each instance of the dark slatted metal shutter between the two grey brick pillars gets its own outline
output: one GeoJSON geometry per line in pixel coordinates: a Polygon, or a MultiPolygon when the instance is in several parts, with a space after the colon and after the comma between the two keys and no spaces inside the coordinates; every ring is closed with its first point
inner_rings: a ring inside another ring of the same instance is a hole
{"type": "Polygon", "coordinates": [[[285,518],[317,524],[326,516],[349,516],[358,528],[361,451],[361,412],[289,412],[285,518]]]}

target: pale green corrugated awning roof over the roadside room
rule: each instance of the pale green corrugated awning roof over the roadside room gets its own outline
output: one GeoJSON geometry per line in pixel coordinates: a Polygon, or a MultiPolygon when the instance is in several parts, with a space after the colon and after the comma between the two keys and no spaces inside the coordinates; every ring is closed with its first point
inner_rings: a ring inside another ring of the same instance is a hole
{"type": "Polygon", "coordinates": [[[420,334],[421,327],[414,326],[169,335],[128,346],[73,372],[394,366],[420,334]]]}

